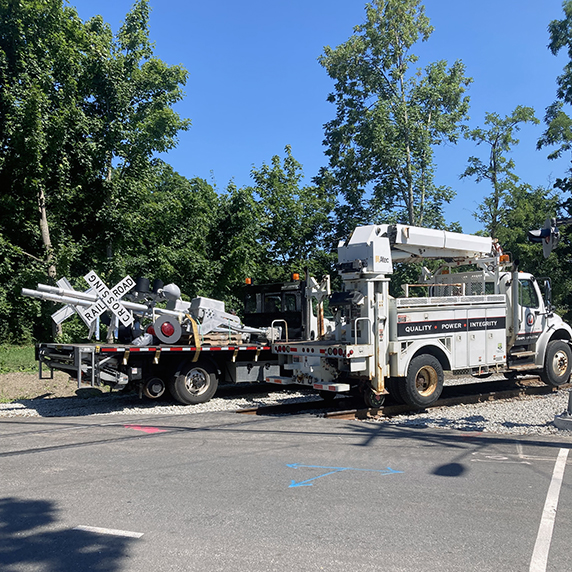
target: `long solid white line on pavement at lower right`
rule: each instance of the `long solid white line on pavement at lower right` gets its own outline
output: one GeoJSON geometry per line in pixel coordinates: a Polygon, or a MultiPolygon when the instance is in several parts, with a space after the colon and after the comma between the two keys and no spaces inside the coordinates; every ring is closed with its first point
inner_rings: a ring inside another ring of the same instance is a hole
{"type": "Polygon", "coordinates": [[[556,508],[558,507],[558,497],[560,496],[560,487],[564,478],[564,469],[566,468],[566,460],[570,449],[560,449],[554,471],[552,472],[552,480],[548,487],[546,502],[542,512],[540,528],[534,545],[532,559],[530,561],[529,572],[545,572],[548,563],[548,551],[552,542],[552,531],[554,529],[554,520],[556,519],[556,508]]]}

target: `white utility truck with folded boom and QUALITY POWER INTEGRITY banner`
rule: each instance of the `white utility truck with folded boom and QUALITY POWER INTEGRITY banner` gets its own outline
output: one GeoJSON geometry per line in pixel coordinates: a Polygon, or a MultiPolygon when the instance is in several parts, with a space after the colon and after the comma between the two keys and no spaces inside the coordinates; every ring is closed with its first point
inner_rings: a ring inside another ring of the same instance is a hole
{"type": "Polygon", "coordinates": [[[414,407],[439,398],[443,372],[534,373],[568,382],[572,329],[550,304],[550,282],[519,272],[491,238],[403,224],[358,227],[338,246],[343,291],[332,294],[335,330],[313,341],[278,341],[282,375],[266,381],[327,392],[361,389],[414,407]],[[394,262],[441,260],[403,297],[389,293],[394,262]],[[471,266],[469,266],[471,265],[471,266]],[[473,270],[466,271],[472,267],[473,270]],[[456,271],[465,270],[465,271],[456,271]]]}

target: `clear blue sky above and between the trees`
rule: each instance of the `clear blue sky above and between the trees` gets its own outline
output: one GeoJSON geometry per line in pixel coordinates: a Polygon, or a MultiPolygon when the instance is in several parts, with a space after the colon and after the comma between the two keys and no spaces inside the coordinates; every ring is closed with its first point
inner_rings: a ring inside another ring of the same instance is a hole
{"type": "MultiPolygon", "coordinates": [[[[119,29],[132,0],[70,0],[80,17],[101,14],[119,29]]],[[[223,191],[230,180],[251,183],[253,166],[283,156],[286,145],[303,165],[306,181],[327,164],[323,125],[334,116],[326,101],[332,81],[318,64],[325,45],[347,40],[363,21],[362,0],[151,0],[150,30],[155,55],[189,71],[186,97],[177,111],[192,121],[164,159],[180,174],[201,177],[223,191]]],[[[419,65],[460,59],[474,80],[470,126],[482,126],[485,112],[507,115],[517,105],[534,107],[543,119],[554,101],[556,77],[566,54],[547,49],[548,23],[563,17],[560,0],[426,0],[435,28],[414,47],[419,65]]],[[[549,186],[564,175],[570,157],[548,161],[536,151],[544,125],[524,126],[513,153],[516,172],[533,186],[549,186]]],[[[470,155],[485,149],[463,141],[439,148],[436,182],[456,190],[446,209],[449,222],[465,232],[480,225],[472,216],[485,183],[459,180],[470,155]]],[[[548,213],[547,213],[548,214],[548,213]]]]}

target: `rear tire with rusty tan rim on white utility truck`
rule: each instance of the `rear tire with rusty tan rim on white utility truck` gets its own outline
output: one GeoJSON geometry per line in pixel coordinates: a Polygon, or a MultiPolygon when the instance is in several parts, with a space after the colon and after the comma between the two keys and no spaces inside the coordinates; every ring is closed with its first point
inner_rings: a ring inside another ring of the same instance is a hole
{"type": "Polygon", "coordinates": [[[401,396],[412,407],[428,407],[435,403],[443,391],[443,367],[429,354],[413,358],[407,370],[401,396]]]}

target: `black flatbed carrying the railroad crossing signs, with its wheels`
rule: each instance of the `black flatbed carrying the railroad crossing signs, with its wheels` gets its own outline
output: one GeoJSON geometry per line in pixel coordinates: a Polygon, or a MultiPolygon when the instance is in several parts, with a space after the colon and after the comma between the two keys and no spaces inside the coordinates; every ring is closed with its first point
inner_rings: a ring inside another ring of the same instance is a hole
{"type": "Polygon", "coordinates": [[[264,382],[280,374],[278,358],[263,344],[133,346],[58,344],[36,346],[40,378],[64,371],[80,387],[136,390],[155,399],[169,391],[180,403],[204,403],[219,383],[264,382]]]}

